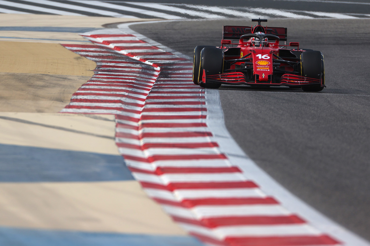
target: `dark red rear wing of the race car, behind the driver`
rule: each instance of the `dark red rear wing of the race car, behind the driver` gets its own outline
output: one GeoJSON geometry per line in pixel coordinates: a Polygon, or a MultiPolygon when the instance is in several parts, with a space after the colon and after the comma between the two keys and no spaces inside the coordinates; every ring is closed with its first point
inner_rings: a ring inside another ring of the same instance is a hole
{"type": "MultiPolygon", "coordinates": [[[[280,41],[287,40],[286,27],[266,27],[266,34],[276,35],[280,41]]],[[[224,25],[222,30],[222,39],[231,40],[231,44],[239,44],[239,38],[243,34],[252,33],[252,27],[224,25]]]]}

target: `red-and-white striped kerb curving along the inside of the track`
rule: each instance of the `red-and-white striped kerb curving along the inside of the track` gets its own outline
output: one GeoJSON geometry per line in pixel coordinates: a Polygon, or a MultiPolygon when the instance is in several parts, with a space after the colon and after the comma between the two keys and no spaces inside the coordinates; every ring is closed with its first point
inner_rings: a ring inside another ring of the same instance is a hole
{"type": "Polygon", "coordinates": [[[97,62],[61,112],[116,115],[116,144],[145,192],[209,245],[342,245],[283,207],[222,153],[192,63],[119,29],[64,45],[97,62]]]}

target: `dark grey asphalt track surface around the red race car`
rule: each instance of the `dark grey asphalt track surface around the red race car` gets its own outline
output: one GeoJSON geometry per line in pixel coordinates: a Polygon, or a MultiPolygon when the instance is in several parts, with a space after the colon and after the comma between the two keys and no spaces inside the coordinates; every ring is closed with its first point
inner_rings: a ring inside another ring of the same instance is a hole
{"type": "MultiPolygon", "coordinates": [[[[220,45],[222,25],[249,20],[157,22],[131,28],[192,57],[220,45]]],[[[276,87],[219,89],[225,124],[258,166],[297,197],[370,240],[370,20],[269,20],[288,42],[322,51],[319,93],[276,87]]]]}

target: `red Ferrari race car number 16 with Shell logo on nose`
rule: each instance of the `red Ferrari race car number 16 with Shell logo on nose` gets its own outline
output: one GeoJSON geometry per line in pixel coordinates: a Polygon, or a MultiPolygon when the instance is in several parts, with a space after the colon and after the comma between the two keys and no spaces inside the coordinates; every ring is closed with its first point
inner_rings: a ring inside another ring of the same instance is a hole
{"type": "Polygon", "coordinates": [[[286,44],[287,28],[223,26],[221,47],[199,45],[194,49],[193,82],[204,88],[221,84],[256,87],[289,86],[321,91],[324,58],[320,51],[286,44]],[[283,45],[280,41],[285,41],[283,45]],[[287,46],[296,47],[288,49],[287,46]]]}

